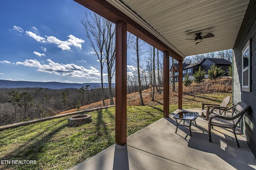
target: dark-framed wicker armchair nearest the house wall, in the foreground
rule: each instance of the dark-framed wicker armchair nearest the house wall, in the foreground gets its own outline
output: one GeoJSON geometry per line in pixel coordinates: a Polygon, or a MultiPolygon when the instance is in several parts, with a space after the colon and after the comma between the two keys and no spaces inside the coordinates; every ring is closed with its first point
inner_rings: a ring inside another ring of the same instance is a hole
{"type": "Polygon", "coordinates": [[[209,129],[209,142],[212,142],[211,139],[211,127],[213,129],[213,126],[218,126],[218,127],[224,127],[224,128],[229,128],[232,129],[236,138],[236,144],[239,146],[237,137],[236,137],[236,126],[241,120],[242,116],[246,111],[248,111],[250,105],[248,105],[246,102],[238,102],[237,104],[227,108],[223,109],[220,107],[214,107],[211,111],[210,118],[208,121],[208,129],[209,129]],[[214,109],[222,109],[223,111],[228,111],[232,109],[232,115],[220,115],[216,113],[212,113],[214,109]]]}

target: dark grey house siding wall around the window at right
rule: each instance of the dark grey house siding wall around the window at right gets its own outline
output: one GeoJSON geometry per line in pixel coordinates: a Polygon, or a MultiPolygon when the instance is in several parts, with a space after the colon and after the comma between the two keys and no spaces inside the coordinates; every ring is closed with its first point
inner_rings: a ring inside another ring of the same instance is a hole
{"type": "Polygon", "coordinates": [[[256,0],[251,0],[233,49],[233,102],[244,101],[251,108],[244,115],[241,127],[256,158],[256,0]],[[251,39],[250,92],[242,91],[242,49],[251,39]]]}

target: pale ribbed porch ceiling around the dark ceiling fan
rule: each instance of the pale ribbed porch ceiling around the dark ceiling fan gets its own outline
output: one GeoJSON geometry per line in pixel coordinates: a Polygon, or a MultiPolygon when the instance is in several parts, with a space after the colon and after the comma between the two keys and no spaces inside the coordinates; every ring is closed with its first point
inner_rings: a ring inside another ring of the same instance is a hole
{"type": "Polygon", "coordinates": [[[182,57],[232,49],[250,0],[107,0],[182,57]],[[195,33],[213,33],[197,45],[195,33]]]}

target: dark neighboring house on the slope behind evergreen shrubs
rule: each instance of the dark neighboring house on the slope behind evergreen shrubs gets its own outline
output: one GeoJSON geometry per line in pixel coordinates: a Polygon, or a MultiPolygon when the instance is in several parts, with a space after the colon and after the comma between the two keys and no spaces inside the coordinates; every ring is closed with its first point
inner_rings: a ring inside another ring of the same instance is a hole
{"type": "MultiPolygon", "coordinates": [[[[231,63],[225,59],[212,59],[212,58],[204,58],[201,62],[192,63],[192,64],[183,64],[182,76],[183,80],[185,76],[188,74],[189,78],[193,80],[193,74],[198,71],[199,66],[201,66],[202,70],[206,71],[206,78],[208,78],[208,70],[210,67],[216,64],[217,67],[221,67],[222,70],[225,70],[228,74],[228,67],[231,66],[231,63]]],[[[172,69],[170,70],[172,75],[172,69]]],[[[178,64],[174,64],[174,80],[178,81],[178,64]]]]}

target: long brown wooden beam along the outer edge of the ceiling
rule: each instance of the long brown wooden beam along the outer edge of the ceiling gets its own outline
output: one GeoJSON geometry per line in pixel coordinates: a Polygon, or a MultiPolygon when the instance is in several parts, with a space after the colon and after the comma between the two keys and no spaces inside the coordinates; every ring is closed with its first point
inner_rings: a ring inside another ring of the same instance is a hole
{"type": "Polygon", "coordinates": [[[156,47],[160,51],[169,51],[169,55],[180,61],[183,61],[183,58],[176,53],[173,49],[168,47],[165,43],[163,43],[160,39],[154,36],[152,33],[147,31],[144,27],[136,23],[136,21],[132,20],[126,14],[118,10],[112,4],[110,4],[106,0],[74,0],[81,4],[82,6],[92,10],[93,12],[99,14],[100,16],[112,21],[113,23],[117,23],[122,20],[127,23],[127,31],[136,35],[143,41],[149,43],[150,45],[156,47]]]}

